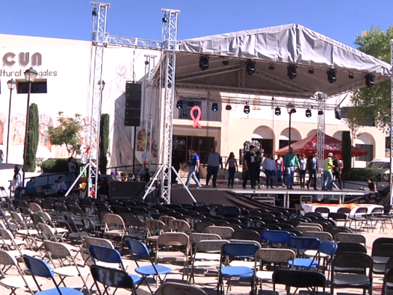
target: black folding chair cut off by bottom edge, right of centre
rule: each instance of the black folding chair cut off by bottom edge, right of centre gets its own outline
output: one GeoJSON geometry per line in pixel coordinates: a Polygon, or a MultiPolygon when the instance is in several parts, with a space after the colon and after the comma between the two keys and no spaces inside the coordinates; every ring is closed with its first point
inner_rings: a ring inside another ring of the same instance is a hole
{"type": "Polygon", "coordinates": [[[287,295],[290,294],[291,287],[296,288],[292,294],[296,294],[299,288],[306,288],[310,295],[317,295],[320,294],[318,293],[318,287],[322,288],[322,295],[326,294],[326,277],[317,271],[278,269],[273,273],[273,294],[276,294],[277,284],[285,285],[287,295]]]}

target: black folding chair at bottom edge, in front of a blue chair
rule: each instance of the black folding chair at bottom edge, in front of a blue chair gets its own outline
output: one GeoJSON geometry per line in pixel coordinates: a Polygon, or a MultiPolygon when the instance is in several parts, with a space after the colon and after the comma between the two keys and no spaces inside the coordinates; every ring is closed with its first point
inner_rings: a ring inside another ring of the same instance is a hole
{"type": "Polygon", "coordinates": [[[99,295],[109,295],[108,289],[110,287],[115,288],[115,291],[120,288],[131,290],[133,295],[137,294],[135,283],[138,281],[136,282],[132,275],[130,276],[129,273],[122,269],[94,265],[90,266],[90,271],[99,295]],[[101,292],[98,283],[104,286],[103,292],[101,292]]]}

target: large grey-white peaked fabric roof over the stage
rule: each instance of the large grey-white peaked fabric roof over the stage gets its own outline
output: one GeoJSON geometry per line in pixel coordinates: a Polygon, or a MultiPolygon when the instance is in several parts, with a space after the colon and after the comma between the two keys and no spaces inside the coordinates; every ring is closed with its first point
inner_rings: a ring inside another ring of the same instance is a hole
{"type": "Polygon", "coordinates": [[[390,79],[392,73],[389,63],[301,25],[182,40],[178,50],[177,89],[309,98],[316,92],[335,96],[363,88],[367,74],[374,75],[374,83],[379,83],[390,79]],[[205,55],[209,57],[209,68],[202,71],[199,57],[205,55]],[[253,75],[245,71],[249,59],[256,62],[253,75]],[[287,76],[290,64],[297,65],[294,79],[287,76]],[[335,83],[327,79],[331,68],[337,70],[335,83]],[[352,79],[349,74],[353,74],[352,79]]]}

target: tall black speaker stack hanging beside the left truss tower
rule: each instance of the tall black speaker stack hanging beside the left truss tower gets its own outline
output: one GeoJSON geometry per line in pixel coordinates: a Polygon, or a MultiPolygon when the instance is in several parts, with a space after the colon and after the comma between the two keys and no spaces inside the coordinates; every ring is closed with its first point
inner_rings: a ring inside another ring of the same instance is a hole
{"type": "Polygon", "coordinates": [[[140,126],[141,101],[142,84],[127,82],[124,126],[140,126]]]}

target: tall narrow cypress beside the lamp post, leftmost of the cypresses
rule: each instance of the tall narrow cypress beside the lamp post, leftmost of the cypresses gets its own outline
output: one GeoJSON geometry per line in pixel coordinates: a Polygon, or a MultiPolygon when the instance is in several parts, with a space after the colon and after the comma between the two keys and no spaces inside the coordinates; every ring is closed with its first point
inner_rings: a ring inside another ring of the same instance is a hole
{"type": "Polygon", "coordinates": [[[26,171],[34,172],[35,155],[37,153],[39,139],[39,117],[38,107],[32,103],[28,113],[28,134],[27,134],[27,152],[26,152],[26,171]]]}

